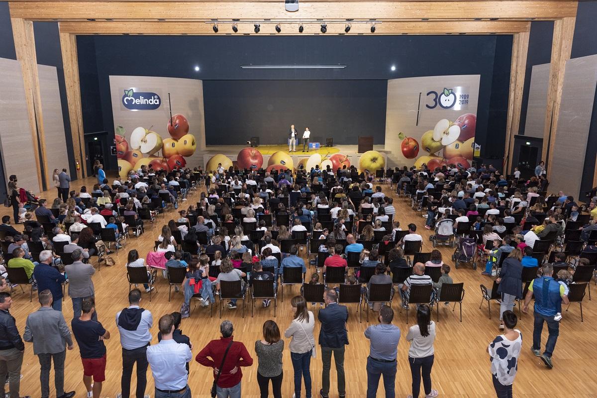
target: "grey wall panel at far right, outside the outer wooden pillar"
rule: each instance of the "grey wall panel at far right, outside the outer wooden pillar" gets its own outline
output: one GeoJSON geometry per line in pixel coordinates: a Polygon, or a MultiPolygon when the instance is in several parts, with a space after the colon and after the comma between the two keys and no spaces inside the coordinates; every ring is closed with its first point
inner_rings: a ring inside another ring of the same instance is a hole
{"type": "Polygon", "coordinates": [[[566,61],[549,190],[578,198],[597,83],[597,55],[566,61]]]}

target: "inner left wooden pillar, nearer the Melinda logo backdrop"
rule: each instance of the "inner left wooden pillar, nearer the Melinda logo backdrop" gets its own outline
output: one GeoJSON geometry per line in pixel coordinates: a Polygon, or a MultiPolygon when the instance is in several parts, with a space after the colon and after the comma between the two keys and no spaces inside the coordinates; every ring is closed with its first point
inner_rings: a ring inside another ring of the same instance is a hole
{"type": "Polygon", "coordinates": [[[60,48],[64,66],[64,85],[69,107],[70,133],[72,134],[75,161],[81,168],[77,178],[85,177],[85,140],[83,137],[83,116],[81,111],[81,87],[79,85],[79,62],[76,53],[76,35],[60,32],[60,48]]]}

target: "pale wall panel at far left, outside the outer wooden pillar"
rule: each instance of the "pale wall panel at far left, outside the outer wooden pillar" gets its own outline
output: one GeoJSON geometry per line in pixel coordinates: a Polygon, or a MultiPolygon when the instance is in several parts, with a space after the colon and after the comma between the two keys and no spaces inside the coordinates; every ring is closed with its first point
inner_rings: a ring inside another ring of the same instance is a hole
{"type": "Polygon", "coordinates": [[[0,58],[0,145],[5,174],[19,175],[19,186],[39,192],[29,113],[19,61],[0,58]]]}

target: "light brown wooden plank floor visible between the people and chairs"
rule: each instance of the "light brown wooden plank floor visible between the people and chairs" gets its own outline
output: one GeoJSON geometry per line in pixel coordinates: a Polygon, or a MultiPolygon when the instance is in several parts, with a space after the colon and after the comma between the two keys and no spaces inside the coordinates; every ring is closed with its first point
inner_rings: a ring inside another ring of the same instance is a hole
{"type": "MultiPolygon", "coordinates": [[[[83,181],[87,186],[93,185],[93,180],[88,178],[83,181]]],[[[78,188],[82,183],[73,183],[73,188],[78,188]]],[[[389,186],[384,186],[384,192],[390,193],[389,186]]],[[[56,191],[47,192],[46,199],[53,199],[56,191]]],[[[199,195],[195,194],[189,198],[188,202],[196,202],[199,195]]],[[[403,227],[408,223],[416,223],[424,236],[423,251],[431,251],[432,245],[429,239],[430,233],[423,229],[424,218],[408,207],[403,200],[396,199],[395,218],[400,221],[403,227]]],[[[2,208],[1,215],[8,214],[11,209],[2,208]]],[[[167,214],[166,220],[174,217],[174,212],[167,214]]],[[[93,277],[96,286],[96,303],[99,320],[104,327],[110,331],[112,338],[106,341],[107,347],[107,380],[104,382],[104,388],[101,396],[115,397],[121,391],[121,345],[119,343],[119,334],[115,325],[115,314],[117,311],[128,306],[127,292],[128,283],[125,271],[125,261],[128,249],[138,249],[144,255],[152,249],[153,240],[159,235],[161,223],[151,230],[147,227],[146,233],[139,239],[134,237],[128,241],[127,247],[121,249],[119,254],[114,254],[116,266],[106,268],[101,267],[101,271],[93,277]]],[[[452,249],[441,249],[444,254],[444,261],[453,265],[450,260],[452,249]]],[[[463,303],[463,322],[458,321],[458,308],[453,312],[451,308],[441,305],[441,318],[437,325],[437,339],[435,343],[435,365],[432,371],[433,388],[439,391],[440,396],[444,397],[491,397],[495,396],[493,385],[491,383],[490,362],[487,354],[487,345],[493,338],[499,334],[498,325],[498,306],[492,305],[492,320],[488,319],[487,304],[484,303],[479,309],[481,301],[481,292],[479,284],[491,286],[491,279],[481,276],[481,270],[473,271],[470,266],[461,267],[456,270],[452,267],[451,276],[454,282],[464,282],[466,294],[463,303]]],[[[312,270],[311,268],[310,270],[312,270]]],[[[158,293],[153,295],[152,302],[149,302],[149,295],[143,292],[141,306],[152,311],[154,326],[152,334],[154,340],[152,344],[157,343],[157,320],[160,316],[171,311],[179,311],[183,303],[183,294],[174,294],[168,302],[168,285],[161,276],[157,283],[158,293]]],[[[250,307],[245,309],[244,319],[241,317],[241,306],[236,310],[223,310],[222,319],[230,319],[235,326],[235,340],[242,341],[254,357],[255,363],[250,368],[243,368],[242,394],[244,397],[259,397],[259,387],[256,381],[257,358],[254,355],[254,343],[261,338],[261,326],[267,319],[275,319],[282,332],[288,327],[292,319],[290,311],[290,298],[299,294],[298,286],[293,289],[284,289],[284,303],[278,300],[278,312],[273,318],[273,308],[257,308],[256,314],[251,318],[250,307]]],[[[20,290],[19,290],[20,291],[20,290]]],[[[593,292],[597,292],[593,285],[593,292]]],[[[11,313],[17,319],[17,326],[21,334],[24,331],[24,323],[29,314],[38,308],[35,301],[29,303],[29,294],[15,294],[14,304],[11,313]]],[[[405,322],[405,313],[399,312],[398,303],[392,306],[396,311],[394,318],[395,325],[401,328],[403,336],[407,333],[407,323],[405,322]]],[[[215,310],[216,307],[214,307],[215,310]]],[[[560,336],[558,344],[553,355],[554,368],[548,370],[544,367],[540,359],[533,356],[530,347],[532,343],[533,316],[524,315],[519,320],[518,328],[522,331],[524,340],[524,350],[519,360],[519,370],[514,385],[514,395],[536,396],[536,397],[595,397],[597,396],[597,381],[595,379],[594,369],[597,366],[597,360],[594,356],[594,345],[597,338],[595,326],[597,325],[597,316],[595,302],[588,300],[588,295],[584,301],[584,322],[580,322],[580,310],[578,304],[573,304],[570,311],[564,312],[560,327],[560,336]]],[[[364,338],[363,332],[370,323],[364,317],[363,322],[359,323],[358,316],[355,316],[356,307],[349,308],[350,319],[347,325],[349,332],[350,345],[346,347],[346,360],[344,368],[346,369],[347,396],[365,397],[367,391],[367,372],[365,371],[366,359],[369,353],[369,342],[364,338]]],[[[66,298],[63,306],[64,317],[70,325],[72,320],[72,306],[69,298],[66,298]]],[[[518,314],[518,310],[516,310],[518,314]]],[[[413,312],[411,311],[411,314],[413,312]]],[[[371,323],[376,322],[375,316],[372,316],[371,323]]],[[[410,325],[413,324],[413,317],[410,317],[410,325]]],[[[433,312],[435,320],[435,310],[433,312]]],[[[184,334],[189,335],[194,347],[193,354],[201,350],[205,343],[213,338],[219,338],[220,319],[217,311],[214,311],[214,317],[210,317],[208,308],[195,308],[189,319],[183,320],[182,330],[184,334]]],[[[319,333],[319,325],[316,325],[316,334],[319,333]]],[[[547,336],[544,329],[543,342],[547,336]]],[[[33,355],[32,344],[25,343],[26,350],[23,362],[22,373],[24,375],[21,381],[21,396],[30,395],[32,397],[40,396],[39,387],[39,363],[33,355]]],[[[286,341],[288,346],[288,341],[286,341]]],[[[398,373],[396,374],[396,394],[404,397],[410,394],[411,375],[408,366],[408,343],[403,339],[398,346],[398,373]]],[[[82,382],[82,366],[79,359],[78,348],[73,351],[67,351],[66,359],[66,390],[76,390],[78,397],[84,397],[85,387],[82,382]]],[[[311,372],[313,378],[312,391],[316,396],[321,388],[321,350],[318,347],[318,358],[312,360],[311,372]]],[[[334,366],[331,371],[331,390],[330,396],[337,397],[336,371],[334,366]]],[[[148,371],[149,372],[149,371],[148,371]]],[[[290,361],[290,353],[284,351],[284,382],[282,396],[291,397],[294,391],[293,370],[290,361]]],[[[53,377],[50,378],[53,380],[53,377]]],[[[190,363],[189,385],[193,397],[208,397],[213,381],[211,369],[204,368],[193,360],[190,363]]],[[[135,382],[133,375],[133,383],[135,382]]],[[[53,382],[51,384],[51,396],[55,396],[53,382]]],[[[134,387],[131,389],[134,391],[134,387]]],[[[153,396],[153,378],[148,376],[147,393],[153,396]]],[[[378,390],[378,397],[383,397],[383,386],[378,390]]],[[[304,391],[303,391],[304,397],[304,391]]]]}

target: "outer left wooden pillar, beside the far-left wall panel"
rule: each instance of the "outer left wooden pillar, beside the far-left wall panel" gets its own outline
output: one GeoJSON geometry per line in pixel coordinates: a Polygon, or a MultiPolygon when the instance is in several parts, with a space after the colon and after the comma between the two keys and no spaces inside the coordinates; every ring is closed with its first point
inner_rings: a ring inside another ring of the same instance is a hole
{"type": "Polygon", "coordinates": [[[27,112],[29,112],[29,127],[39,189],[46,190],[48,189],[46,180],[48,165],[45,155],[44,116],[42,115],[41,94],[39,92],[33,22],[24,20],[23,18],[11,18],[11,23],[13,24],[14,48],[23,73],[25,99],[27,101],[27,112]]]}

